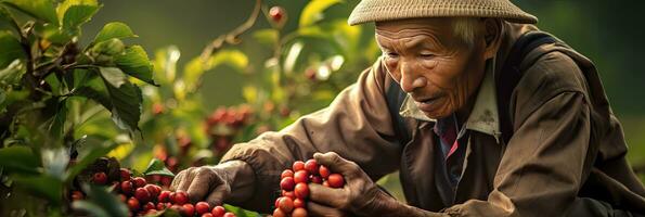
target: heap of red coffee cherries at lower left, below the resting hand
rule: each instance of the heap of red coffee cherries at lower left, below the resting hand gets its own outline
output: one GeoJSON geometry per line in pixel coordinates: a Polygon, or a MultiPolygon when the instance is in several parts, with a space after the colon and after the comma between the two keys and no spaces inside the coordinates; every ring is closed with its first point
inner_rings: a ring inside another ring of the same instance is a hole
{"type": "MultiPolygon", "coordinates": [[[[184,217],[234,217],[235,214],[227,213],[223,206],[211,207],[206,202],[191,204],[185,192],[171,192],[162,187],[147,183],[143,177],[132,177],[127,168],[120,168],[120,181],[113,182],[113,191],[118,193],[121,202],[128,205],[130,216],[155,215],[167,208],[178,212],[184,217]]],[[[103,171],[95,173],[92,182],[107,184],[107,175],[103,171]]],[[[82,192],[74,191],[73,200],[81,200],[82,192]]]]}

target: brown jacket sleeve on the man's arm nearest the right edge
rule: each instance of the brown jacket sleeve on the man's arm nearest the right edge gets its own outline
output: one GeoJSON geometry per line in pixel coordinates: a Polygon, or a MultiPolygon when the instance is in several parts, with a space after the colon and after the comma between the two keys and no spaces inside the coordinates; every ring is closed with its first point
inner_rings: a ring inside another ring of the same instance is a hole
{"type": "MultiPolygon", "coordinates": [[[[591,170],[589,98],[582,72],[553,52],[527,69],[514,92],[514,135],[487,201],[444,209],[450,216],[563,216],[591,170]]],[[[602,212],[606,207],[597,206],[602,212]]]]}

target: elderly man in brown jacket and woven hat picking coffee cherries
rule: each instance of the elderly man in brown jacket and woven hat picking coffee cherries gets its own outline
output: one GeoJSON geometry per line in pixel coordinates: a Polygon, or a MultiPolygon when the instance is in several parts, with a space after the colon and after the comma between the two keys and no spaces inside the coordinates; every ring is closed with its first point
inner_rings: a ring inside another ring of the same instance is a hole
{"type": "Polygon", "coordinates": [[[363,0],[383,56],[324,110],[181,171],[191,199],[270,210],[314,157],[312,216],[634,216],[645,188],[593,64],[507,0],[363,0]],[[321,153],[325,154],[321,154],[321,153]],[[396,170],[408,204],[374,180],[396,170]]]}

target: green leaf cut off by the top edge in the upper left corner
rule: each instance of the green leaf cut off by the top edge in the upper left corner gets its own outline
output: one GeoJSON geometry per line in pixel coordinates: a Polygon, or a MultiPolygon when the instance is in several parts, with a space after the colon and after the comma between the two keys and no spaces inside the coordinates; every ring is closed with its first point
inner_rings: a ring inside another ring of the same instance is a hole
{"type": "Polygon", "coordinates": [[[7,3],[30,16],[59,25],[59,18],[51,0],[5,0],[7,3]]]}

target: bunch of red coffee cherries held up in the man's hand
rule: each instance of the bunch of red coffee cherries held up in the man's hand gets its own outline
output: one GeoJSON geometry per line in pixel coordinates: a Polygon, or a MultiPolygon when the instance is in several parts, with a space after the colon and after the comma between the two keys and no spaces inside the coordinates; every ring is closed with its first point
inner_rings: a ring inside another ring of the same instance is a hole
{"type": "Polygon", "coordinates": [[[315,159],[296,161],[293,169],[282,171],[280,181],[282,196],[275,200],[273,217],[306,217],[309,183],[343,188],[345,179],[339,174],[332,174],[326,166],[319,165],[315,159]]]}

